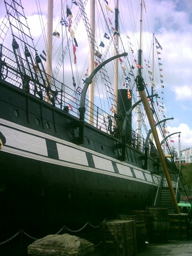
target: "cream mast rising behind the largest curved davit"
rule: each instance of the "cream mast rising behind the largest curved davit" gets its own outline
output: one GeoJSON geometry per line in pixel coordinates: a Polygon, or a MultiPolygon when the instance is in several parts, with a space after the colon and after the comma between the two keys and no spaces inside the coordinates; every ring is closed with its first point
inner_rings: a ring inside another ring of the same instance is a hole
{"type": "MultiPolygon", "coordinates": [[[[90,27],[92,30],[90,55],[89,55],[89,75],[94,70],[94,38],[95,38],[95,0],[90,1],[90,27]]],[[[93,124],[93,105],[94,105],[94,79],[89,85],[89,123],[93,124]]]]}

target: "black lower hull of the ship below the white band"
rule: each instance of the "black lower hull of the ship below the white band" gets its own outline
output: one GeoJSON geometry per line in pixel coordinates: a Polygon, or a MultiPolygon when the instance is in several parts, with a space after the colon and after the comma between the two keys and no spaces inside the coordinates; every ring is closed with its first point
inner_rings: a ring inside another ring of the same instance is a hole
{"type": "Polygon", "coordinates": [[[144,210],[154,199],[156,186],[142,182],[3,152],[1,156],[2,166],[9,166],[1,169],[6,184],[0,194],[3,234],[24,229],[32,236],[46,235],[63,225],[77,230],[86,221],[98,226],[118,213],[144,210]]]}

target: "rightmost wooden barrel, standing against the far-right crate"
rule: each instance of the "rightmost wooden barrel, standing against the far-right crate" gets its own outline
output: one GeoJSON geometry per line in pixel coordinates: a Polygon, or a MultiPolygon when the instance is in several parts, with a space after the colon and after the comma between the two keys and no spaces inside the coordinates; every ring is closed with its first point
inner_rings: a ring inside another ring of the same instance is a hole
{"type": "Polygon", "coordinates": [[[151,215],[151,242],[168,242],[170,220],[167,208],[149,208],[151,215]]]}

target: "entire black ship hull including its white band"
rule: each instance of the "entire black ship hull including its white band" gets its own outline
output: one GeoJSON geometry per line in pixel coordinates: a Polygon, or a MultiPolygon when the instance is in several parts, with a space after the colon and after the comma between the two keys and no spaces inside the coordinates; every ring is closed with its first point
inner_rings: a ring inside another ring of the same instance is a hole
{"type": "Polygon", "coordinates": [[[152,158],[143,170],[142,153],[127,147],[121,162],[118,140],[88,124],[77,145],[78,118],[3,81],[0,97],[2,239],[20,229],[40,238],[63,225],[97,226],[153,204],[159,178],[150,174],[152,158]]]}

